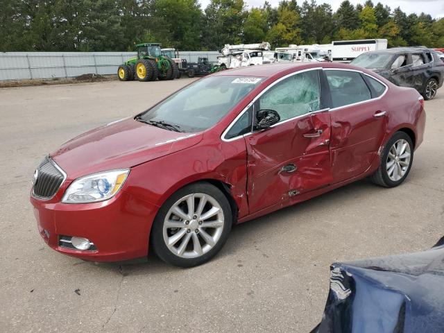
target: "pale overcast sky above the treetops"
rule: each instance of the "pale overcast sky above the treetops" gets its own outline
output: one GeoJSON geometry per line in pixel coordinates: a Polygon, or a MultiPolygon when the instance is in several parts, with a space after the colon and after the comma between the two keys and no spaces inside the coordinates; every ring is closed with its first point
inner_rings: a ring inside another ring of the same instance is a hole
{"type": "MultiPolygon", "coordinates": [[[[260,7],[264,4],[265,0],[244,0],[244,2],[249,7],[260,7]]],[[[278,6],[280,0],[268,0],[272,6],[278,6]]],[[[317,0],[318,4],[320,3],[330,3],[333,10],[336,11],[339,8],[343,0],[317,0]]],[[[392,9],[400,7],[402,11],[407,12],[407,14],[411,14],[412,12],[416,12],[416,14],[420,14],[421,12],[425,12],[426,14],[432,15],[434,18],[444,17],[444,0],[372,0],[374,4],[380,2],[384,5],[391,7],[392,9]]],[[[301,5],[303,0],[298,0],[298,4],[301,5]]],[[[356,5],[357,3],[364,4],[365,0],[350,0],[351,3],[356,5]]],[[[200,0],[202,8],[205,9],[210,0],[200,0]]]]}

